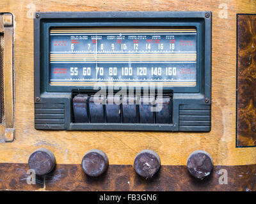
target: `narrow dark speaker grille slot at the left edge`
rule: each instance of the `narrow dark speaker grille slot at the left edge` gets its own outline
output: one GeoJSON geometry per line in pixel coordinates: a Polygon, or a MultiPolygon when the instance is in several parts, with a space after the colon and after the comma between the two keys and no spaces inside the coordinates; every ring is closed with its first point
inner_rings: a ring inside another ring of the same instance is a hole
{"type": "Polygon", "coordinates": [[[4,83],[3,83],[3,67],[4,67],[4,35],[0,33],[0,123],[4,118],[4,83]]]}

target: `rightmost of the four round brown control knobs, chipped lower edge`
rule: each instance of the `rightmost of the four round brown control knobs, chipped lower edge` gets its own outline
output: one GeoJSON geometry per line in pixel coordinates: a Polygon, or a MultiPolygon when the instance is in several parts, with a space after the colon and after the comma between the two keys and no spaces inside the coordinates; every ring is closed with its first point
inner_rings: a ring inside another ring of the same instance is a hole
{"type": "Polygon", "coordinates": [[[204,150],[192,152],[187,160],[189,173],[196,179],[205,179],[211,174],[213,167],[212,157],[204,150]]]}

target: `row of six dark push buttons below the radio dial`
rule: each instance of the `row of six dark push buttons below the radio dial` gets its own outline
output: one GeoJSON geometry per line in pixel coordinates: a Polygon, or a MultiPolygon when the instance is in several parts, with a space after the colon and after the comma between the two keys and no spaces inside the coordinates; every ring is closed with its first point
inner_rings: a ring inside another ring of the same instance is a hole
{"type": "Polygon", "coordinates": [[[170,96],[77,95],[73,98],[74,122],[76,123],[172,123],[170,96]]]}

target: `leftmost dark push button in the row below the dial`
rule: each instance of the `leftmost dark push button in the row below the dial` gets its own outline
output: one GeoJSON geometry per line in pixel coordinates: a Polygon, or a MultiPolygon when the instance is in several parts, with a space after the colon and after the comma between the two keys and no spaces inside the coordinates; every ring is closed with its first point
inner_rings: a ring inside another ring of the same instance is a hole
{"type": "Polygon", "coordinates": [[[88,117],[88,96],[77,95],[73,98],[73,110],[75,122],[89,122],[88,117]]]}

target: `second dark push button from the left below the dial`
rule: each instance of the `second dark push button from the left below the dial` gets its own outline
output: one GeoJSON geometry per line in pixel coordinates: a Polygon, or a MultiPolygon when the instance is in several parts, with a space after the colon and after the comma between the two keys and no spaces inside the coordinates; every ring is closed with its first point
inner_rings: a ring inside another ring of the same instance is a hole
{"type": "Polygon", "coordinates": [[[89,100],[90,118],[92,123],[106,122],[104,115],[103,96],[91,96],[89,100]]]}

